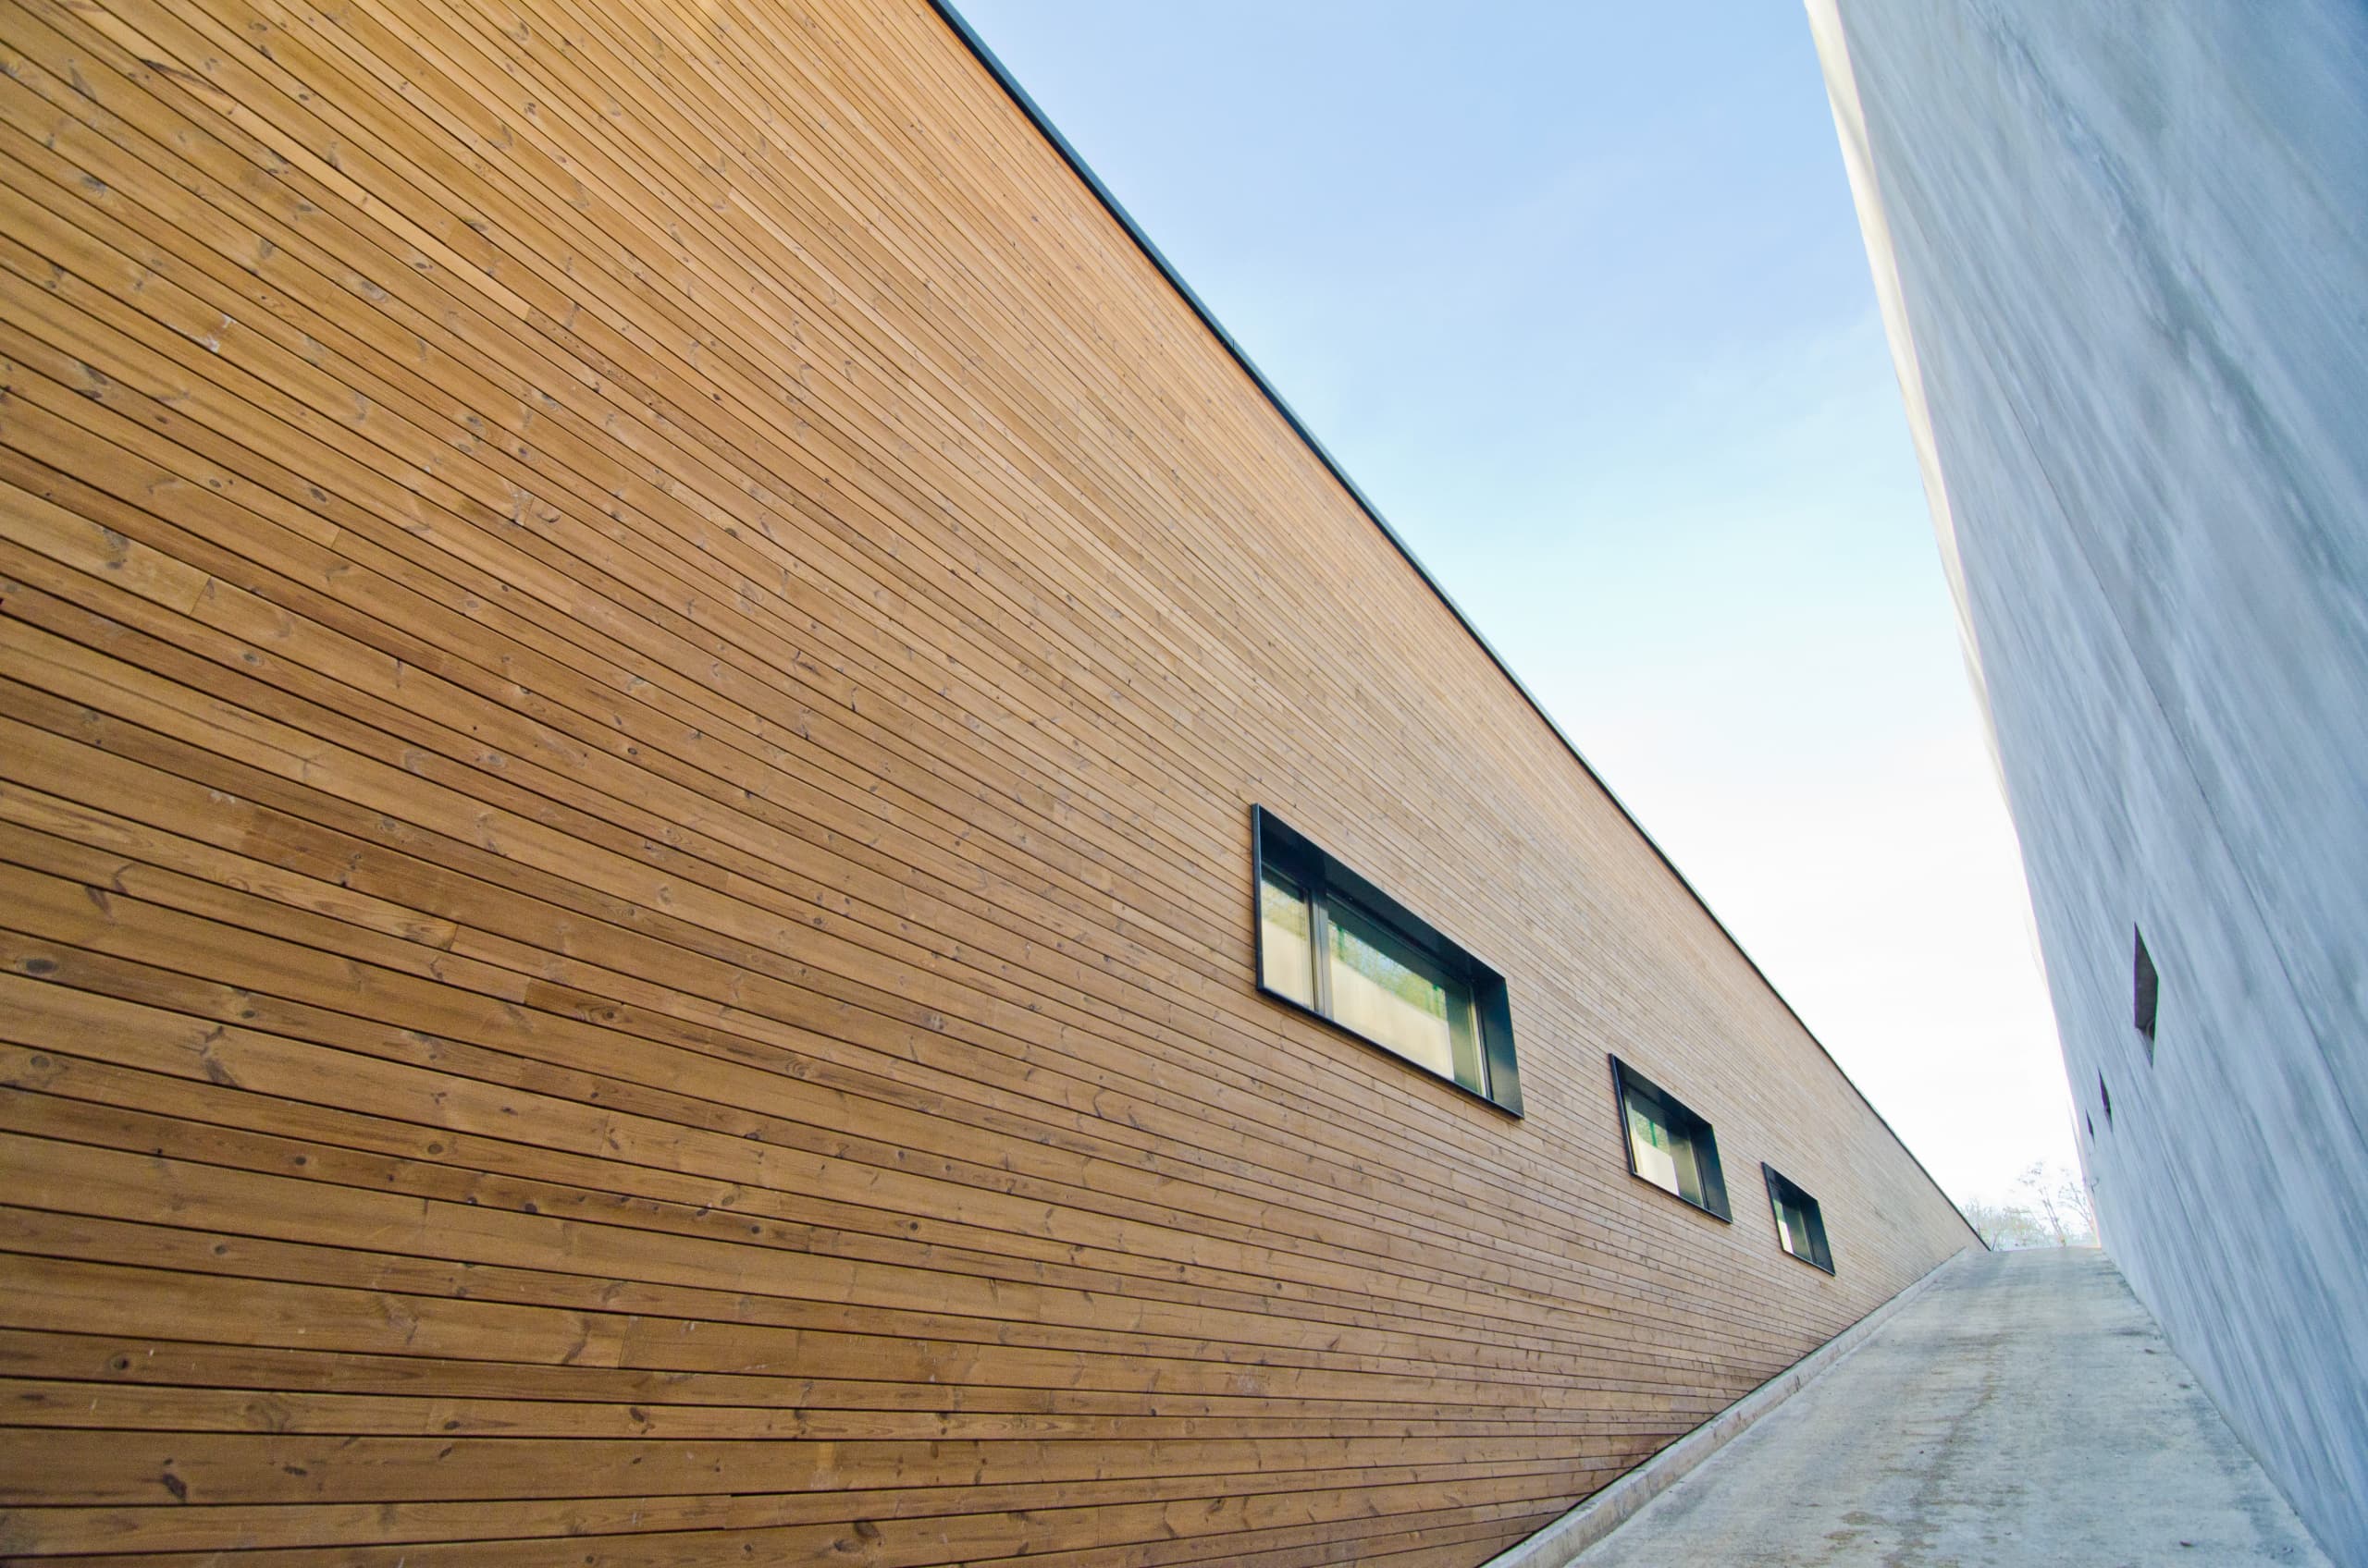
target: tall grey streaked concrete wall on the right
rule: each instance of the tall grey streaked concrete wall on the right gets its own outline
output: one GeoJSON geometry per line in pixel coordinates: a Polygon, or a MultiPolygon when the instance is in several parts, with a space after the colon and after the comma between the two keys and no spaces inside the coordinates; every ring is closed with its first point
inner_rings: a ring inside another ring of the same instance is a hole
{"type": "Polygon", "coordinates": [[[2363,1563],[2368,9],[1809,12],[2105,1244],[2363,1563]]]}

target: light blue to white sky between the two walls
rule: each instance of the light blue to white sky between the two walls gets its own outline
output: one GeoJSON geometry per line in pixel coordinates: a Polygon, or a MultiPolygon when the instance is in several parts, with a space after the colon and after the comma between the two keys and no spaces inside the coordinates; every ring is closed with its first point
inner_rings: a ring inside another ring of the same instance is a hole
{"type": "Polygon", "coordinates": [[[1800,5],[961,12],[1942,1187],[2074,1168],[1800,5]]]}

